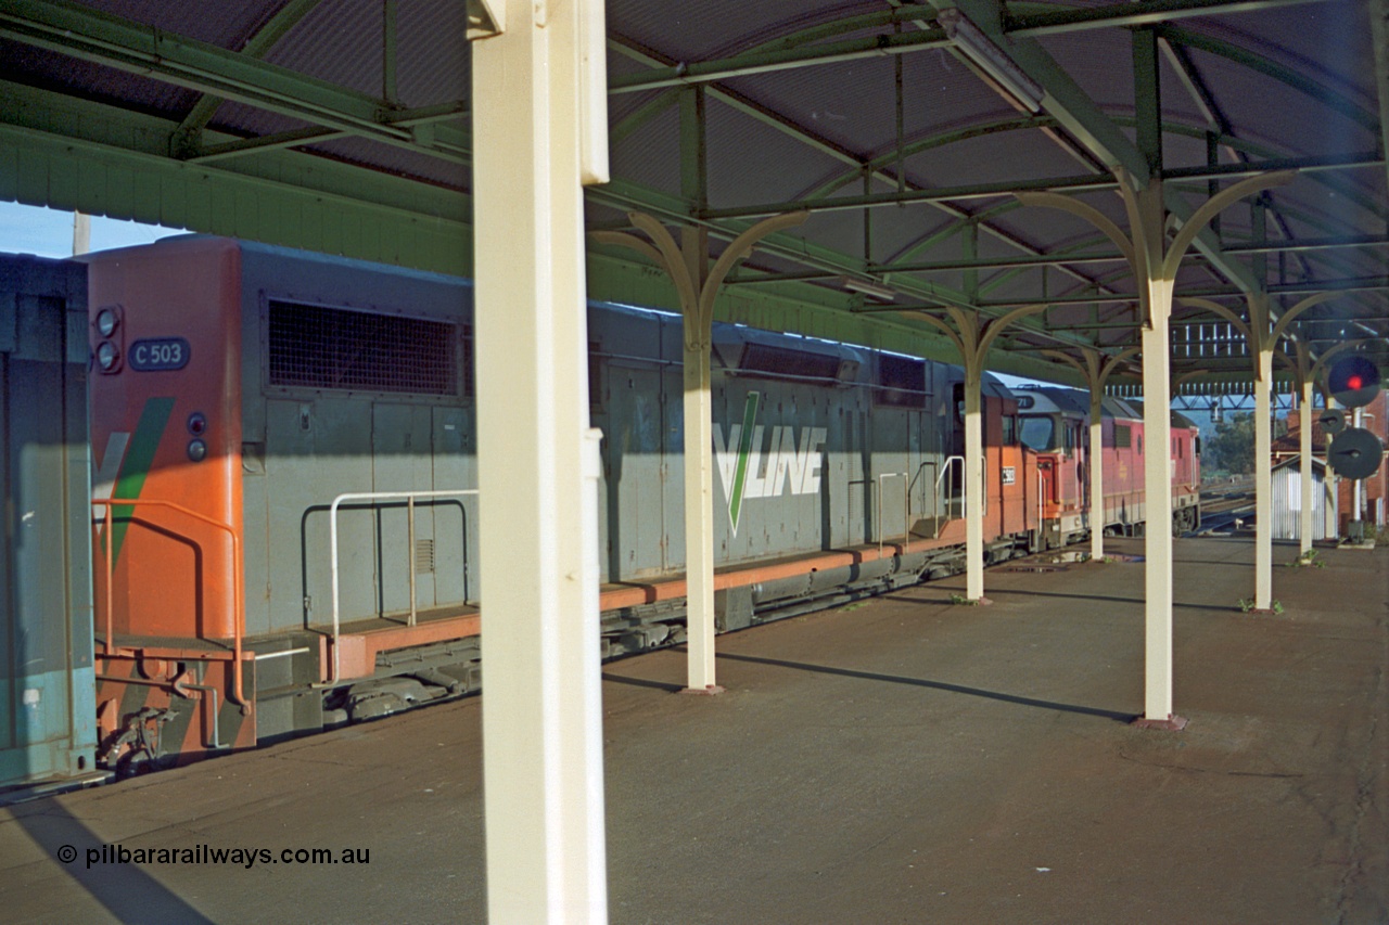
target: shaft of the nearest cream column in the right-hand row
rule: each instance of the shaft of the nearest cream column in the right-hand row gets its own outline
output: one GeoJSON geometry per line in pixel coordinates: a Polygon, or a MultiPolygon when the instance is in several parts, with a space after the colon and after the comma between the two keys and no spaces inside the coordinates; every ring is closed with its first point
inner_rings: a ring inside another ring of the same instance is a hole
{"type": "Polygon", "coordinates": [[[1172,412],[1168,318],[1172,281],[1149,279],[1143,328],[1143,557],[1146,656],[1143,718],[1172,719],[1172,412]]]}

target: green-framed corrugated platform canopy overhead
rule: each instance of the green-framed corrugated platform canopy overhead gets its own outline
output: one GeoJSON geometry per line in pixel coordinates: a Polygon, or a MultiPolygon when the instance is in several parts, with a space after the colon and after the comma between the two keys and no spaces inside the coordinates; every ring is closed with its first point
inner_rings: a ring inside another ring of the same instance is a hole
{"type": "MultiPolygon", "coordinates": [[[[468,10],[458,0],[6,0],[0,199],[471,274],[468,10]]],[[[717,315],[956,360],[922,314],[1047,303],[989,368],[1076,381],[1047,351],[1138,344],[1110,238],[1018,192],[1126,228],[1117,185],[1164,182],[1168,232],[1225,210],[1176,276],[1174,379],[1249,381],[1207,308],[1274,318],[1315,357],[1389,360],[1389,0],[610,0],[613,182],[629,212],[708,229],[761,217],[717,315]],[[1197,372],[1199,371],[1199,372],[1197,372]]],[[[663,272],[594,244],[590,296],[674,306],[663,272]]],[[[1136,382],[1120,371],[1113,382],[1136,382]]]]}

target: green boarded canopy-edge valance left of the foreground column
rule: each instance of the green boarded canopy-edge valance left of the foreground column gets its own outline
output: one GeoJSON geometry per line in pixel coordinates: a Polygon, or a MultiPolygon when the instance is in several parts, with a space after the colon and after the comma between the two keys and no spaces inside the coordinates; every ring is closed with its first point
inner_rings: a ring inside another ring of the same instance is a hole
{"type": "Polygon", "coordinates": [[[0,200],[471,274],[471,203],[461,193],[297,151],[188,164],[168,156],[176,128],[0,85],[0,200]]]}

